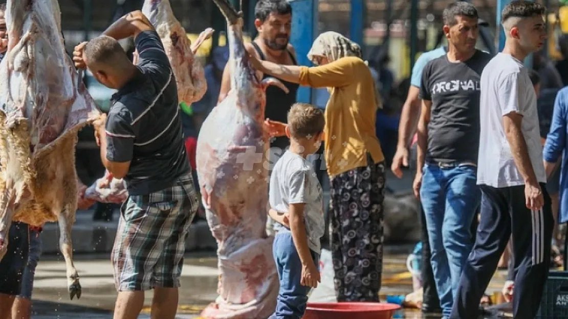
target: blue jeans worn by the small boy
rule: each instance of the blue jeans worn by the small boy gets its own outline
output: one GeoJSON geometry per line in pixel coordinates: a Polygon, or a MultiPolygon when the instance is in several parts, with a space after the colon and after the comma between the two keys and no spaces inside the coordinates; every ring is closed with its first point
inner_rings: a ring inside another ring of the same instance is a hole
{"type": "MultiPolygon", "coordinates": [[[[319,255],[311,250],[310,252],[317,267],[319,255]]],[[[311,287],[300,284],[302,262],[298,250],[294,246],[290,231],[278,231],[274,236],[272,253],[278,270],[278,279],[280,279],[280,290],[278,291],[276,311],[270,316],[270,319],[300,319],[306,312],[308,292],[310,292],[311,287]]]]}

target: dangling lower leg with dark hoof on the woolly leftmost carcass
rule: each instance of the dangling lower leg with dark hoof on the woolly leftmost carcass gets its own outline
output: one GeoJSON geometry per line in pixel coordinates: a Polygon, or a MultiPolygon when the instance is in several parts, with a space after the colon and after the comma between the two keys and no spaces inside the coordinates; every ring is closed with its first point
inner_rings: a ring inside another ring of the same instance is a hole
{"type": "Polygon", "coordinates": [[[73,216],[74,212],[69,210],[69,206],[65,207],[65,211],[57,214],[59,222],[59,247],[63,258],[65,258],[65,268],[67,269],[67,282],[69,284],[69,297],[73,300],[74,296],[77,299],[81,298],[81,284],[79,283],[79,274],[75,265],[73,265],[73,245],[71,241],[71,227],[75,222],[73,216]]]}

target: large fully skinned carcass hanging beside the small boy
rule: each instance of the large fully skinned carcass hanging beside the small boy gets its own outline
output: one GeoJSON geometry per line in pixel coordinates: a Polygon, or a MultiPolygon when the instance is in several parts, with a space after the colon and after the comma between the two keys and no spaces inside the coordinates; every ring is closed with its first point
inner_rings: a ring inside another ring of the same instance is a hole
{"type": "Polygon", "coordinates": [[[206,318],[267,318],[274,312],[278,275],[268,214],[268,134],[263,130],[266,87],[250,66],[243,18],[226,0],[214,0],[228,21],[231,91],[203,122],[197,141],[197,174],[207,222],[218,244],[219,297],[206,318]]]}

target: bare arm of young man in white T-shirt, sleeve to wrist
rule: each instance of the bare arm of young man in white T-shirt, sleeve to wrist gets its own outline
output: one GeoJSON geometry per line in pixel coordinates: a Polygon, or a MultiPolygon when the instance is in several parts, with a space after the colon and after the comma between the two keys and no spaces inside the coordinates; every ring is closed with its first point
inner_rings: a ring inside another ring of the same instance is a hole
{"type": "Polygon", "coordinates": [[[538,181],[536,175],[534,175],[527,142],[525,141],[523,131],[521,131],[522,122],[523,116],[516,112],[511,112],[503,116],[505,135],[509,142],[509,147],[511,147],[511,154],[513,155],[517,169],[519,169],[525,183],[537,185],[538,181]]]}

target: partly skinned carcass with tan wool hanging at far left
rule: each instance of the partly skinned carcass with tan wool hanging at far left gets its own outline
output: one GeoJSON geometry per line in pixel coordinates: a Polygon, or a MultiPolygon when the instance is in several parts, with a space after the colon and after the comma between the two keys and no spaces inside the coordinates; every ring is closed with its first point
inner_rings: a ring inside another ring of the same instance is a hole
{"type": "Polygon", "coordinates": [[[71,227],[77,210],[77,131],[99,116],[66,54],[55,0],[8,0],[0,63],[0,258],[12,220],[59,222],[70,298],[81,296],[71,227]]]}

